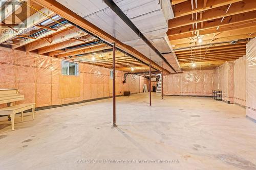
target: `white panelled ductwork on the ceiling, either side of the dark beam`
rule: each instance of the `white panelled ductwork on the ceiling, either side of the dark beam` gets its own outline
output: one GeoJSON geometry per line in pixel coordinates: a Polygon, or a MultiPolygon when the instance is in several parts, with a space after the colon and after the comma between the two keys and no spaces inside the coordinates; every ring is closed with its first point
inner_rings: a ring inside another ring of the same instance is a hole
{"type": "MultiPolygon", "coordinates": [[[[134,47],[160,66],[174,72],[102,0],[57,1],[123,43],[134,47]]],[[[115,0],[114,2],[160,53],[172,51],[168,38],[166,38],[168,19],[174,17],[169,0],[115,0]]],[[[180,71],[175,55],[171,56],[171,60],[174,69],[180,71]]]]}

